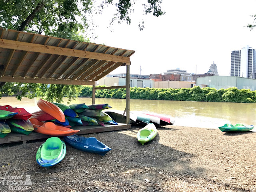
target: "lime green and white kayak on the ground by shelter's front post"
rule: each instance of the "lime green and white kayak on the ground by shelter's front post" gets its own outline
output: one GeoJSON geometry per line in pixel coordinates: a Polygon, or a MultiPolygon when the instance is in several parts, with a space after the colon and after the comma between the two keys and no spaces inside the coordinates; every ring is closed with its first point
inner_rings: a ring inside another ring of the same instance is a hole
{"type": "Polygon", "coordinates": [[[137,139],[142,145],[144,145],[146,142],[154,139],[156,137],[156,134],[156,126],[153,123],[149,123],[144,128],[138,131],[137,139]]]}

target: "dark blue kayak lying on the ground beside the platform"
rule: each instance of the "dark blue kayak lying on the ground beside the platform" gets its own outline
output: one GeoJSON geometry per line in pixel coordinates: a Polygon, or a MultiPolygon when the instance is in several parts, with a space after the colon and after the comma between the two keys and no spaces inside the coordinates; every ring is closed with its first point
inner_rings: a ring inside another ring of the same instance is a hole
{"type": "Polygon", "coordinates": [[[111,150],[108,146],[98,141],[95,137],[83,137],[78,135],[66,136],[64,141],[75,149],[96,153],[104,156],[111,150]]]}

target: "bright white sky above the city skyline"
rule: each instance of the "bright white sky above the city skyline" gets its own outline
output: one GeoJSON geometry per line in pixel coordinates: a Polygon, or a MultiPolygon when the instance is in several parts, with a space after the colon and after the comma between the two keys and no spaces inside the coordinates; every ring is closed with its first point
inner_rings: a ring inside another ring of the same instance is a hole
{"type": "MultiPolygon", "coordinates": [[[[94,16],[99,25],[95,43],[135,50],[131,56],[130,73],[160,74],[180,68],[203,74],[215,62],[218,74],[228,76],[232,50],[245,45],[256,49],[256,28],[253,23],[256,0],[163,0],[164,16],[143,16],[138,0],[131,15],[132,24],[115,23],[108,28],[114,8],[105,8],[94,16]],[[144,21],[140,31],[138,24],[144,21]]],[[[125,73],[126,67],[112,72],[125,73]]]]}

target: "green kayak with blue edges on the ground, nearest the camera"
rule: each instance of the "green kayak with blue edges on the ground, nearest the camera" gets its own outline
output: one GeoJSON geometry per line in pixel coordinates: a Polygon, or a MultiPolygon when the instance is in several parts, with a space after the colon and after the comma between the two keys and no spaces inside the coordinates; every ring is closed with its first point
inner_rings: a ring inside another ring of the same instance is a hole
{"type": "Polygon", "coordinates": [[[59,163],[66,155],[66,144],[58,137],[50,137],[36,152],[36,162],[42,167],[59,163]]]}

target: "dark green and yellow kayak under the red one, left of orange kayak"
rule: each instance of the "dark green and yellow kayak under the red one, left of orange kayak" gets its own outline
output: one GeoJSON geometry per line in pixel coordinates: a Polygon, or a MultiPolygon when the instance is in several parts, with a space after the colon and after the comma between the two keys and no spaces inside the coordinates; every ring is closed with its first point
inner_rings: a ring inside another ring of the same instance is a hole
{"type": "Polygon", "coordinates": [[[28,135],[34,130],[30,120],[10,119],[7,120],[7,123],[10,126],[12,132],[28,135]]]}

